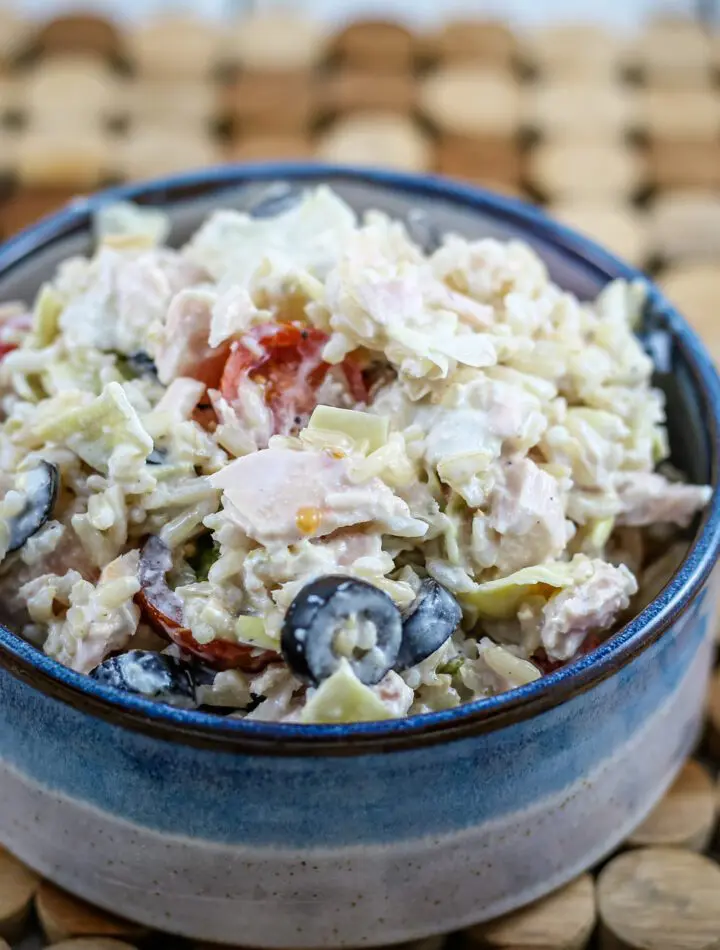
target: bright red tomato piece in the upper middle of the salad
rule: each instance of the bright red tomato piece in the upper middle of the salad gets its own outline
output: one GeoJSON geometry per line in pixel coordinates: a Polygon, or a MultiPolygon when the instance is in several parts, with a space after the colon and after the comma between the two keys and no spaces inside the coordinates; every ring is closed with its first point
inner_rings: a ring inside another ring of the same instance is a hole
{"type": "MultiPolygon", "coordinates": [[[[244,380],[264,386],[276,434],[296,432],[317,405],[316,392],[331,369],[322,358],[328,335],[299,323],[268,323],[253,327],[234,344],[220,381],[220,392],[230,403],[244,380]]],[[[367,400],[367,387],[357,360],[341,364],[348,389],[358,402],[367,400]]]]}

